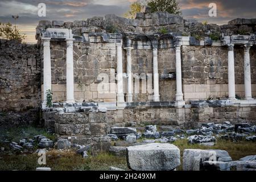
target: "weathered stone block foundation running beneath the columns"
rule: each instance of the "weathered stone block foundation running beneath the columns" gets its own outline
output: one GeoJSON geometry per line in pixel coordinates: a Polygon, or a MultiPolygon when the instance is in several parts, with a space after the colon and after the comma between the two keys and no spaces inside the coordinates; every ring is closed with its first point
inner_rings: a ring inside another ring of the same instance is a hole
{"type": "Polygon", "coordinates": [[[174,102],[133,102],[123,110],[103,113],[97,109],[84,112],[84,106],[76,103],[76,106],[55,107],[52,111],[45,111],[44,119],[47,129],[55,130],[60,138],[71,137],[77,143],[89,144],[97,143],[97,140],[108,143],[105,136],[110,134],[112,127],[154,124],[188,129],[200,127],[202,123],[224,121],[254,124],[255,111],[256,105],[242,106],[230,101],[192,102],[187,108],[175,108],[174,102]],[[71,108],[76,111],[70,112],[71,108]]]}

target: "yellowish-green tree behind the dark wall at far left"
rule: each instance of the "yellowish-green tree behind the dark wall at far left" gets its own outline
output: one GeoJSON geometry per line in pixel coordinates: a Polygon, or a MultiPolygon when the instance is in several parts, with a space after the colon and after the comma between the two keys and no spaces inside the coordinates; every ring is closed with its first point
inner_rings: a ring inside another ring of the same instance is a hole
{"type": "Polygon", "coordinates": [[[26,38],[25,34],[22,34],[16,26],[11,23],[0,22],[0,38],[9,40],[18,40],[22,42],[26,38]]]}

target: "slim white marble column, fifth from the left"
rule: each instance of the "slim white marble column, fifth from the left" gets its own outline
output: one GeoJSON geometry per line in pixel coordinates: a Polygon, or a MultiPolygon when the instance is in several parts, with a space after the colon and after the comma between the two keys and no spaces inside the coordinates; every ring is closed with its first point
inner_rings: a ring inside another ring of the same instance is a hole
{"type": "Polygon", "coordinates": [[[160,101],[159,95],[159,75],[158,75],[158,49],[153,48],[153,73],[154,73],[154,101],[160,101]]]}

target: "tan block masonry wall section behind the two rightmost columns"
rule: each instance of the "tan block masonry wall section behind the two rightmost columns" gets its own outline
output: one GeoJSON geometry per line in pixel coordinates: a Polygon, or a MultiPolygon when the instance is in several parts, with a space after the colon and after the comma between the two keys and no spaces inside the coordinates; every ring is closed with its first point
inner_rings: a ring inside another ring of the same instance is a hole
{"type": "MultiPolygon", "coordinates": [[[[250,49],[251,86],[256,97],[256,48],[250,49]]],[[[228,48],[182,46],[184,98],[206,100],[228,97],[228,48]]],[[[234,47],[236,94],[244,97],[243,48],[234,47]]]]}

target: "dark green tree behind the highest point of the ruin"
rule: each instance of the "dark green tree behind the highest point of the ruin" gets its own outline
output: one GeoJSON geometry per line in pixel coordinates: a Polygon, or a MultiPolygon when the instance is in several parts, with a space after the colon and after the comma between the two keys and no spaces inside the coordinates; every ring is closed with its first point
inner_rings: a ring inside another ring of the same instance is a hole
{"type": "Polygon", "coordinates": [[[151,7],[151,13],[167,11],[171,14],[181,15],[179,3],[176,0],[150,0],[147,5],[151,7]]]}

